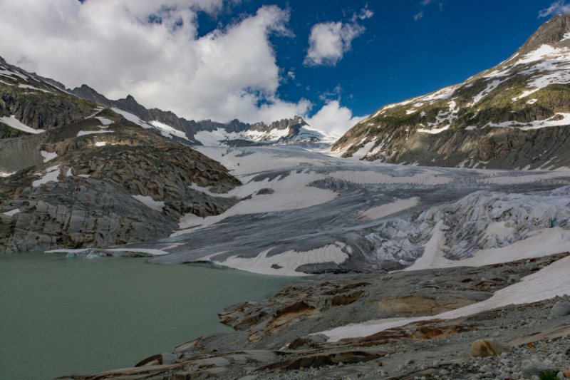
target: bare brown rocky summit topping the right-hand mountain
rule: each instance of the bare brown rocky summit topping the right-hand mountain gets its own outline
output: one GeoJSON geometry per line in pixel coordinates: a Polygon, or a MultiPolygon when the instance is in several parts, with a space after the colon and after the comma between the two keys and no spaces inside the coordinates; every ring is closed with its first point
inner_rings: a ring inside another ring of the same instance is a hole
{"type": "Polygon", "coordinates": [[[562,41],[568,42],[566,34],[570,33],[570,14],[557,14],[552,16],[549,21],[544,22],[537,31],[529,37],[527,42],[519,48],[519,55],[527,54],[537,50],[542,45],[556,45],[562,41]]]}

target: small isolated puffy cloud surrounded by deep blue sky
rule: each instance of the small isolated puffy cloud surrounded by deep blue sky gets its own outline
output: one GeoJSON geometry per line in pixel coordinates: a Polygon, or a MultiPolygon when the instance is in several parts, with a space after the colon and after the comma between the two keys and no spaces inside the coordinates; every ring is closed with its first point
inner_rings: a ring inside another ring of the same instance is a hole
{"type": "Polygon", "coordinates": [[[323,22],[315,24],[309,35],[309,51],[304,60],[306,66],[336,66],[344,53],[351,50],[354,38],[364,33],[366,28],[358,24],[358,19],[370,19],[374,12],[364,8],[354,14],[351,22],[323,22]]]}

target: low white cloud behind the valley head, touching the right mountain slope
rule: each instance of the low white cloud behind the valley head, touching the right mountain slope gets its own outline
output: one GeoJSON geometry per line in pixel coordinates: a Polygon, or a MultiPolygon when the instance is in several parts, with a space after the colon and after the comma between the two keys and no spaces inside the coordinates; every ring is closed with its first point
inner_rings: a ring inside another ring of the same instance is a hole
{"type": "Polygon", "coordinates": [[[312,118],[307,118],[306,122],[313,128],[326,130],[341,136],[366,118],[368,118],[368,115],[362,117],[353,116],[351,110],[342,107],[338,101],[329,101],[312,118]]]}

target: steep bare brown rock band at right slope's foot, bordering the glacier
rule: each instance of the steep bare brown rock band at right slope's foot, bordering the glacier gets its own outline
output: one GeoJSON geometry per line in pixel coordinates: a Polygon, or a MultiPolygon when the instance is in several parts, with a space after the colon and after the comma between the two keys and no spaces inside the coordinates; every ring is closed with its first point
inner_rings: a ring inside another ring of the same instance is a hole
{"type": "MultiPolygon", "coordinates": [[[[570,128],[537,130],[484,128],[441,133],[396,135],[366,160],[423,166],[488,169],[555,169],[570,167],[570,128]]],[[[379,138],[379,141],[383,140],[379,138]]],[[[357,147],[349,150],[356,152],[357,147]]]]}

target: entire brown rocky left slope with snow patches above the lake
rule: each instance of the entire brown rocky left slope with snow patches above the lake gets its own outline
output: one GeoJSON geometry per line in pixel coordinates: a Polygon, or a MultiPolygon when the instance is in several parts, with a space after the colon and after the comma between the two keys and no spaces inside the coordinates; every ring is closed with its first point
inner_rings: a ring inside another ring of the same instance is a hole
{"type": "Polygon", "coordinates": [[[185,215],[237,202],[217,193],[239,180],[180,143],[180,131],[125,118],[4,61],[0,78],[0,252],[167,237],[185,215]]]}

